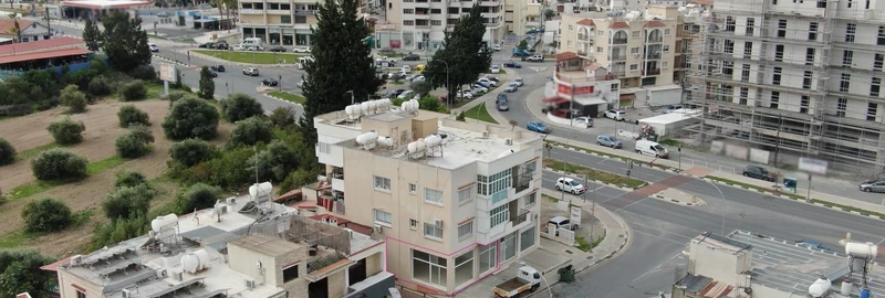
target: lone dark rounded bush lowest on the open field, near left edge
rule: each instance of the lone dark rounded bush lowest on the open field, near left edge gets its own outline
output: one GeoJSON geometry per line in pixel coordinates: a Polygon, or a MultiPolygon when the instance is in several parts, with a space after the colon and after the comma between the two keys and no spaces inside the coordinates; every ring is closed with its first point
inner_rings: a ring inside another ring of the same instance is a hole
{"type": "Polygon", "coordinates": [[[21,211],[21,217],[28,232],[56,232],[74,222],[71,209],[54,199],[28,202],[21,211]]]}

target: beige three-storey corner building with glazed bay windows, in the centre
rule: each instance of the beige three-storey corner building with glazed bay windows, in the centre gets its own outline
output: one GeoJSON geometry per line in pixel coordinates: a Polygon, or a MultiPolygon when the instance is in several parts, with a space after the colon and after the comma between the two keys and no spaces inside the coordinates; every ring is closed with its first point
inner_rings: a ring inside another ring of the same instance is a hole
{"type": "Polygon", "coordinates": [[[417,107],[382,99],[314,118],[331,180],[316,210],[373,226],[402,286],[451,296],[538,247],[543,145],[417,107]]]}

